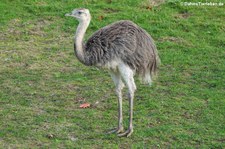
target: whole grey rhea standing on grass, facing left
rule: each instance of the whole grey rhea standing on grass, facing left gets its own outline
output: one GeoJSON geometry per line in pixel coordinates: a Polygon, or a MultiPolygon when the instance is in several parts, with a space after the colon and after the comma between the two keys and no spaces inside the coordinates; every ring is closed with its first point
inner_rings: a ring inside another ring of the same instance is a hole
{"type": "Polygon", "coordinates": [[[116,132],[118,136],[130,136],[133,132],[133,99],[136,85],[134,75],[142,81],[151,84],[152,76],[156,74],[160,59],[151,36],[135,23],[122,20],[105,26],[96,31],[86,43],[83,38],[91,15],[88,9],[74,9],[65,16],[71,16],[79,21],[75,33],[74,49],[78,60],[87,66],[97,66],[109,70],[116,86],[118,96],[118,126],[109,133],[116,132]],[[128,88],[129,127],[123,132],[122,89],[128,88]]]}

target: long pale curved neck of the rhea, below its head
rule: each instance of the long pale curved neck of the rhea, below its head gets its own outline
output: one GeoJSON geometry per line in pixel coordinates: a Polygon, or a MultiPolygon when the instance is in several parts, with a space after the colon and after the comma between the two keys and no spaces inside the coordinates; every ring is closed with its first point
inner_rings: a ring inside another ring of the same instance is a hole
{"type": "Polygon", "coordinates": [[[80,23],[77,27],[77,30],[76,30],[76,34],[75,34],[75,46],[76,46],[75,54],[76,54],[78,60],[85,65],[88,65],[88,62],[85,59],[83,39],[84,39],[84,35],[88,28],[89,23],[90,23],[90,20],[80,21],[80,23]]]}

